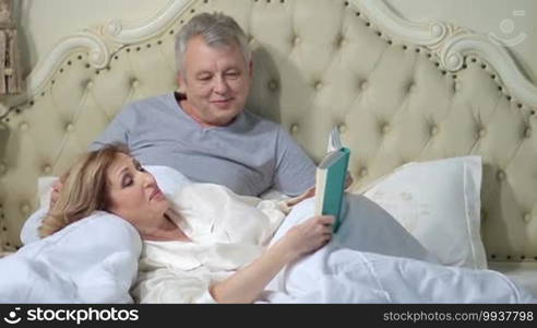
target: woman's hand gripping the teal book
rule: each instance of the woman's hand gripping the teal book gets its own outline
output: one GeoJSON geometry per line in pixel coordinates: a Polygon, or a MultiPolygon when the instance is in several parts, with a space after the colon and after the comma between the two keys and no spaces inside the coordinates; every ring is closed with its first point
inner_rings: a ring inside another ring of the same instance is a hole
{"type": "Polygon", "coordinates": [[[278,244],[285,245],[290,260],[295,260],[326,245],[332,238],[332,224],[334,224],[332,215],[310,218],[291,227],[278,244]]]}

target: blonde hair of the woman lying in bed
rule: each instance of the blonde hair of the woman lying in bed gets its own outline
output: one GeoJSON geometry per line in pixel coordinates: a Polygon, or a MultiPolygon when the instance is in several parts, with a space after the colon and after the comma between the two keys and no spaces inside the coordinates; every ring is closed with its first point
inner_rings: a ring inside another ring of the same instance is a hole
{"type": "Polygon", "coordinates": [[[124,144],[108,144],[84,154],[62,175],[63,186],[59,198],[39,226],[41,238],[91,215],[94,211],[107,209],[107,172],[118,153],[130,155],[124,144]]]}

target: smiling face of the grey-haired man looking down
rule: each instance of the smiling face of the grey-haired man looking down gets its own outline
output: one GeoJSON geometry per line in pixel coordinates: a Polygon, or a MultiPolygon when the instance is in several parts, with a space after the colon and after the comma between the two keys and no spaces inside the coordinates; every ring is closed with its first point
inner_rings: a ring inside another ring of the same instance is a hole
{"type": "Polygon", "coordinates": [[[188,114],[204,126],[225,126],[244,108],[251,62],[246,62],[238,45],[210,47],[195,36],[187,44],[178,81],[188,114]]]}

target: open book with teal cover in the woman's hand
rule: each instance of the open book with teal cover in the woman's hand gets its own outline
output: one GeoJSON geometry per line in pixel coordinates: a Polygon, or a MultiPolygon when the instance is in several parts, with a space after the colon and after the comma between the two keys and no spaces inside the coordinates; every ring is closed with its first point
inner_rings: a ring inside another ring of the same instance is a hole
{"type": "Polygon", "coordinates": [[[336,232],[343,220],[345,180],[350,150],[342,147],[337,129],[333,129],[329,140],[329,152],[319,163],[315,172],[315,215],[334,215],[333,231],[336,232]]]}

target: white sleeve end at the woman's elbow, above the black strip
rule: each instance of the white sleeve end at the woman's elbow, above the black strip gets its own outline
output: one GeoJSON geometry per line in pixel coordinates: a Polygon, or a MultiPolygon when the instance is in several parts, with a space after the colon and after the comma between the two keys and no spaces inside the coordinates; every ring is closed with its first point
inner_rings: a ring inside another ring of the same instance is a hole
{"type": "Polygon", "coordinates": [[[136,303],[216,303],[206,277],[160,268],[140,272],[132,291],[136,303]]]}

